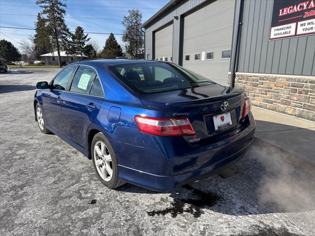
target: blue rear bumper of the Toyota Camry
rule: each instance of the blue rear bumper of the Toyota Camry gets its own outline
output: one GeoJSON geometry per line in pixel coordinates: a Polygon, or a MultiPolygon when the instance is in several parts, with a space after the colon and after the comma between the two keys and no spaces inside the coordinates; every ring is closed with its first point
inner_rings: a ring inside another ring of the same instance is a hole
{"type": "MultiPolygon", "coordinates": [[[[151,150],[151,156],[147,156],[148,148],[143,148],[142,159],[138,159],[138,161],[142,161],[132,167],[126,164],[124,165],[123,161],[125,159],[124,156],[126,157],[126,155],[130,153],[130,151],[127,151],[127,153],[125,152],[125,154],[118,154],[118,163],[120,163],[119,178],[145,188],[157,191],[170,191],[175,187],[214,175],[221,170],[233,165],[245,154],[245,152],[249,148],[253,140],[254,132],[255,122],[252,118],[251,125],[244,132],[230,137],[227,140],[222,140],[220,144],[216,144],[215,148],[199,148],[199,152],[194,153],[193,157],[190,153],[183,156],[158,158],[157,154],[155,153],[156,150],[151,150]],[[156,159],[158,159],[161,164],[158,164],[156,159]],[[190,166],[194,165],[193,161],[197,162],[198,168],[185,173],[182,173],[181,171],[174,171],[178,166],[175,165],[175,163],[178,164],[176,159],[182,159],[183,163],[186,162],[190,166]],[[147,170],[141,170],[140,168],[143,166],[144,163],[146,163],[147,165],[148,160],[152,161],[152,170],[156,170],[156,166],[159,165],[158,169],[162,171],[160,171],[159,173],[152,173],[147,170]],[[140,168],[137,168],[137,166],[139,166],[140,168]],[[172,175],[169,175],[167,173],[168,169],[173,170],[172,175]],[[165,174],[163,173],[164,170],[165,174]]],[[[114,150],[117,150],[117,148],[114,147],[114,150]]],[[[123,149],[121,148],[121,150],[123,149]]],[[[139,150],[137,150],[137,152],[138,151],[139,150]]],[[[130,155],[132,154],[130,153],[130,155]]],[[[134,159],[137,159],[137,155],[132,156],[135,156],[134,159]]]]}

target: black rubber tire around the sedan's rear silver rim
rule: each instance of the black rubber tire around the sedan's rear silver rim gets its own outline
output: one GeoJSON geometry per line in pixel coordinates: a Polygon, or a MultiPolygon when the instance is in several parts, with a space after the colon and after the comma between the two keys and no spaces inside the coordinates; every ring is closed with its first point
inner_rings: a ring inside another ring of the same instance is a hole
{"type": "Polygon", "coordinates": [[[92,156],[92,161],[93,161],[93,167],[95,170],[95,174],[97,176],[97,178],[102,182],[102,184],[104,184],[106,187],[110,188],[110,189],[114,189],[117,188],[123,184],[125,184],[126,182],[123,180],[120,180],[118,178],[118,163],[117,163],[117,159],[116,159],[116,155],[114,152],[114,149],[112,148],[112,146],[110,145],[109,141],[105,138],[105,136],[102,133],[97,133],[95,134],[92,144],[91,144],[91,156],[92,156]],[[111,167],[112,167],[112,177],[110,180],[106,181],[103,179],[103,177],[101,177],[98,173],[96,164],[95,164],[95,154],[94,154],[94,149],[95,149],[95,144],[99,143],[99,141],[103,142],[111,156],[111,167]]]}

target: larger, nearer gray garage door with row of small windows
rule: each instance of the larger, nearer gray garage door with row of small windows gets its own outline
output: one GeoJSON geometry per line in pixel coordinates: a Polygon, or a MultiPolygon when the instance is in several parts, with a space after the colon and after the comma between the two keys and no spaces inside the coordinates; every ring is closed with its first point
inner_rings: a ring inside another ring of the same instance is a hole
{"type": "Polygon", "coordinates": [[[234,1],[222,3],[212,2],[185,17],[183,66],[227,85],[234,1]]]}

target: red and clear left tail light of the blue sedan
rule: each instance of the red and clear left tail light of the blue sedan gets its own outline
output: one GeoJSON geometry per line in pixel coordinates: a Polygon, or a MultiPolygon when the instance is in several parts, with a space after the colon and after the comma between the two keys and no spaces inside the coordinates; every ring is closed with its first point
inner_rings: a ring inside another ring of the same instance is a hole
{"type": "Polygon", "coordinates": [[[153,118],[135,116],[140,131],[158,136],[195,135],[188,118],[153,118]]]}

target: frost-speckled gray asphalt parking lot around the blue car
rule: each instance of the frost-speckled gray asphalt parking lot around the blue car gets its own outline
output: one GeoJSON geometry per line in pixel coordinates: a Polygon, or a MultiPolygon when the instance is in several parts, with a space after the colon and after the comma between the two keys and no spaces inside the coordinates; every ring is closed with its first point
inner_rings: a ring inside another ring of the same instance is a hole
{"type": "Polygon", "coordinates": [[[35,84],[58,69],[28,71],[0,74],[0,235],[315,235],[315,175],[264,142],[170,193],[107,189],[92,161],[34,120],[35,84]]]}

